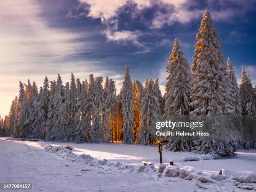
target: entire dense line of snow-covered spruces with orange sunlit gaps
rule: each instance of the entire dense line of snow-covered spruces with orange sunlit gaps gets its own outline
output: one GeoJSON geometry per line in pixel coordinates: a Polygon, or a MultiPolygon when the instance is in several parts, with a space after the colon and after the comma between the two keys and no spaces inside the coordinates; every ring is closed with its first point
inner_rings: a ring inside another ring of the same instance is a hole
{"type": "MultiPolygon", "coordinates": [[[[0,135],[75,142],[151,144],[156,122],[173,115],[256,115],[256,88],[242,69],[238,87],[233,65],[225,65],[222,45],[210,13],[205,11],[196,35],[192,69],[174,42],[166,68],[164,97],[159,79],[132,82],[126,66],[120,93],[115,81],[94,77],[80,81],[71,73],[70,83],[47,77],[39,91],[36,83],[20,82],[19,95],[9,115],[0,118],[0,135]]],[[[220,156],[235,148],[256,147],[254,141],[170,141],[168,150],[195,151],[220,156]]]]}

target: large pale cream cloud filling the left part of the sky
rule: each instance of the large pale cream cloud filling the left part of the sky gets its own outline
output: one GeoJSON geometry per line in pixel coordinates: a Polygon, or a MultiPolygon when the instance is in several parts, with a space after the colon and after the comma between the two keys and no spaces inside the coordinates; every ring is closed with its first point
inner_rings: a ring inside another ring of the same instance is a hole
{"type": "MultiPolygon", "coordinates": [[[[36,81],[38,88],[47,75],[56,79],[60,73],[65,81],[70,72],[81,80],[95,72],[113,74],[99,67],[102,59],[84,59],[80,54],[95,51],[97,42],[80,41],[88,34],[49,26],[41,17],[42,7],[33,0],[0,1],[0,114],[8,113],[11,101],[18,94],[18,81],[36,81]]],[[[79,11],[77,12],[79,13],[79,11]]]]}

